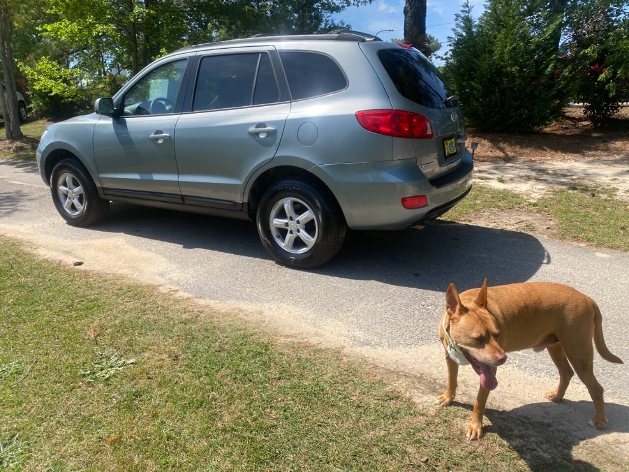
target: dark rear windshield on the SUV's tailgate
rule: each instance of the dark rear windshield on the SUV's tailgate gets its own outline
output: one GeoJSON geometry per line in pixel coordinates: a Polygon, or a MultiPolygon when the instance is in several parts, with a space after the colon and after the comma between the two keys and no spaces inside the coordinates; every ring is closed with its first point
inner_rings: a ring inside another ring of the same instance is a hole
{"type": "Polygon", "coordinates": [[[446,108],[445,84],[435,66],[421,53],[411,49],[381,49],[378,58],[401,96],[428,108],[446,108]]]}

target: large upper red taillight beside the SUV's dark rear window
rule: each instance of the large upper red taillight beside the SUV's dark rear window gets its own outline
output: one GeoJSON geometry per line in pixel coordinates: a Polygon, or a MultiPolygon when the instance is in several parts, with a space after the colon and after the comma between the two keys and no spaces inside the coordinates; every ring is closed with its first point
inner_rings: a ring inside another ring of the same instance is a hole
{"type": "Polygon", "coordinates": [[[365,130],[396,138],[430,139],[432,125],[424,115],[404,110],[363,110],[356,119],[365,130]]]}

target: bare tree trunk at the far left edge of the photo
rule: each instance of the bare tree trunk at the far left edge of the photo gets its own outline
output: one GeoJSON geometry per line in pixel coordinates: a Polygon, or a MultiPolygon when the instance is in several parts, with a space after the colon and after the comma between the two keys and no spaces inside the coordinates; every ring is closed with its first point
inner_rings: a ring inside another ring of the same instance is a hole
{"type": "Polygon", "coordinates": [[[24,135],[19,129],[18,95],[15,85],[15,74],[13,72],[13,48],[11,39],[13,38],[13,18],[6,0],[0,0],[0,60],[2,61],[2,72],[6,96],[0,99],[0,106],[3,111],[4,133],[7,139],[19,139],[24,135]]]}

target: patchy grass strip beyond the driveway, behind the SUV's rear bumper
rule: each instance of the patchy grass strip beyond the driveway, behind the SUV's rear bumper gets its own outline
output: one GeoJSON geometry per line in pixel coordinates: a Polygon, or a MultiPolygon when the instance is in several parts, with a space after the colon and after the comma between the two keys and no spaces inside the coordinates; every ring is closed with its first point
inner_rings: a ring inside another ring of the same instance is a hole
{"type": "Polygon", "coordinates": [[[515,191],[475,184],[442,219],[473,223],[477,211],[512,208],[552,216],[557,221],[553,237],[629,250],[629,203],[616,198],[613,189],[588,183],[553,189],[533,202],[515,191]]]}

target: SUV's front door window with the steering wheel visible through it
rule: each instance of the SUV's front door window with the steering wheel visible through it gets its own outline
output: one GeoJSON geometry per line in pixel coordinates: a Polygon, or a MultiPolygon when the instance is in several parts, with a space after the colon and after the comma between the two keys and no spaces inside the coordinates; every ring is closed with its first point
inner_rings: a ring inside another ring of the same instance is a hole
{"type": "Polygon", "coordinates": [[[174,113],[187,59],[175,60],[151,70],[125,93],[124,115],[174,113]]]}

